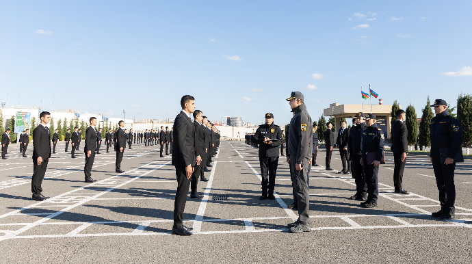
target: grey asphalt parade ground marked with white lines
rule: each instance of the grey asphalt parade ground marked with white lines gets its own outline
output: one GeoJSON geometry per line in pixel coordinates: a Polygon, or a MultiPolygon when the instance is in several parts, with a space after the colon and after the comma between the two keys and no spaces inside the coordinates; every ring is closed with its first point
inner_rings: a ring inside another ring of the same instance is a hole
{"type": "Polygon", "coordinates": [[[276,200],[259,200],[258,149],[222,140],[208,182],[198,182],[201,200],[187,198],[185,226],[194,235],[170,235],[176,177],[171,156],[158,146],[125,150],[124,173],[115,172],[115,153],[101,147],[84,183],[83,146],[77,159],[64,142],[49,162],[43,202],[31,200],[33,163],[17,144],[0,161],[0,263],[471,263],[472,160],[456,166],[456,220],[438,220],[440,209],[430,159],[408,155],[404,189],[394,194],[393,155],[380,167],[378,207],[350,200],[354,179],[324,170],[319,149],[310,176],[312,230],[292,234],[287,224],[298,212],[289,166],[280,157],[276,200]]]}

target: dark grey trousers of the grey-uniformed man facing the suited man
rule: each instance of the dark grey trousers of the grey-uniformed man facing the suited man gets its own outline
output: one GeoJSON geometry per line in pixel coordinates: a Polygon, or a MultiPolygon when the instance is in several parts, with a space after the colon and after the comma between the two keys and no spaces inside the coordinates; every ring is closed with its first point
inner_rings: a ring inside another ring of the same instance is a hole
{"type": "Polygon", "coordinates": [[[302,224],[310,223],[310,196],[309,196],[309,161],[304,159],[302,162],[302,170],[296,169],[297,156],[290,155],[291,174],[293,174],[293,192],[297,196],[298,204],[298,220],[302,224]]]}

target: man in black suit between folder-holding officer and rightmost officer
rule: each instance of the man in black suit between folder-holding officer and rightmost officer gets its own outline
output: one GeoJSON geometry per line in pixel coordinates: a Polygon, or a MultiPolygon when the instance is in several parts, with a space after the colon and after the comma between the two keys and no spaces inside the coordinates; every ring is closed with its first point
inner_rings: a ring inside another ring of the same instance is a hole
{"type": "Polygon", "coordinates": [[[406,114],[402,109],[398,109],[396,115],[397,121],[393,124],[391,147],[393,163],[395,164],[395,168],[393,169],[393,185],[395,186],[395,194],[409,194],[410,192],[402,188],[406,151],[408,150],[408,130],[406,129],[406,124],[403,122],[403,120],[406,120],[406,114]]]}

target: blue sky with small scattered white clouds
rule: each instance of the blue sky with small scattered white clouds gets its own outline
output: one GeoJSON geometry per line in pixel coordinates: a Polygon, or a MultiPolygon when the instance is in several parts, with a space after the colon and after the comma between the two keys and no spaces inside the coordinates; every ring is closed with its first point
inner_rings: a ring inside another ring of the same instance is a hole
{"type": "Polygon", "coordinates": [[[174,118],[192,94],[210,120],[286,124],[293,90],[317,120],[370,83],[421,116],[472,93],[471,25],[470,0],[0,1],[1,101],[174,118]]]}

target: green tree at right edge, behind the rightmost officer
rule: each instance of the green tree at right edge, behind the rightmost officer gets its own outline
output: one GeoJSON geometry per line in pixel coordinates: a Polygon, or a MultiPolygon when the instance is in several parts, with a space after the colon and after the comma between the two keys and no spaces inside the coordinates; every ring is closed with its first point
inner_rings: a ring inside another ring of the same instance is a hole
{"type": "Polygon", "coordinates": [[[460,94],[457,99],[457,119],[462,129],[462,143],[472,146],[472,95],[460,94]]]}

